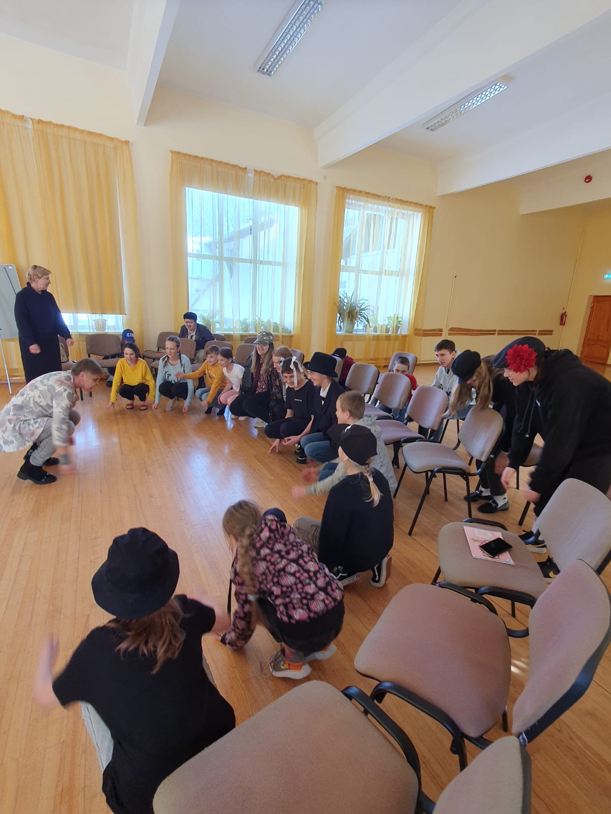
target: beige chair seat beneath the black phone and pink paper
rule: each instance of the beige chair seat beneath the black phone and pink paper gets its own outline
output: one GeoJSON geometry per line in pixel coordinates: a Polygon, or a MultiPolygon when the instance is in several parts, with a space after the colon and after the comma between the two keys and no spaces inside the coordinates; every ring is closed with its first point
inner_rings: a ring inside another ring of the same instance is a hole
{"type": "MultiPolygon", "coordinates": [[[[477,527],[477,522],[473,524],[477,527]]],[[[473,528],[472,526],[472,528],[473,528]]],[[[547,588],[541,569],[521,539],[511,532],[482,526],[489,532],[499,532],[503,540],[512,545],[509,552],[514,565],[493,560],[477,559],[471,555],[463,523],[448,523],[437,538],[439,567],[443,579],[463,588],[482,588],[494,585],[514,591],[524,591],[537,599],[547,588]]]]}

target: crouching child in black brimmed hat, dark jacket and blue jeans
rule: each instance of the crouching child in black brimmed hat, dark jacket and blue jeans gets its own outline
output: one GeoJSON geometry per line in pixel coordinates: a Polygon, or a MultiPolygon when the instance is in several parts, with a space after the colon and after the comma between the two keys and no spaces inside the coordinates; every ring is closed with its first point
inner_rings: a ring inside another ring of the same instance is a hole
{"type": "Polygon", "coordinates": [[[327,463],[336,457],[336,449],[328,436],[329,427],[337,423],[336,401],[344,388],[338,384],[335,371],[336,359],[328,353],[314,353],[310,361],[303,365],[310,372],[310,380],[316,388],[314,392],[314,422],[308,435],[301,439],[298,463],[312,461],[327,463]]]}

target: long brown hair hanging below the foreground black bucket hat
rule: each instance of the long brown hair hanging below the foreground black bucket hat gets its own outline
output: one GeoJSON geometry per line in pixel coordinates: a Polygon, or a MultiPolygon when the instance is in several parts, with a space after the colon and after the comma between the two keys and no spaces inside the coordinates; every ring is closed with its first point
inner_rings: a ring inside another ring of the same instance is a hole
{"type": "Polygon", "coordinates": [[[151,671],[154,676],[169,659],[176,659],[185,640],[185,632],[180,623],[182,608],[175,599],[170,599],[160,610],[142,619],[115,619],[108,627],[116,630],[122,638],[116,652],[121,656],[138,650],[140,656],[155,656],[156,663],[151,671]]]}

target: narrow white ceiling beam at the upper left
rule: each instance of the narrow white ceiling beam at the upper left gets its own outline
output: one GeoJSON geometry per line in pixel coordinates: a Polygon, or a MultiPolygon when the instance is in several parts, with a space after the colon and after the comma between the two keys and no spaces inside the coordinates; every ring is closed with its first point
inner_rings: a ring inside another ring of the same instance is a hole
{"type": "Polygon", "coordinates": [[[180,0],[134,0],[125,71],[137,125],[145,125],[180,0]]]}

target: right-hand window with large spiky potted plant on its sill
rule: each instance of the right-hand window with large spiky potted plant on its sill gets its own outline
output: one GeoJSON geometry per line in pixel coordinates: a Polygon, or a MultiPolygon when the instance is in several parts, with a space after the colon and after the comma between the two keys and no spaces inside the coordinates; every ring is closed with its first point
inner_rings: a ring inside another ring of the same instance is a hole
{"type": "Polygon", "coordinates": [[[407,333],[422,219],[408,204],[346,196],[338,333],[407,333]]]}

